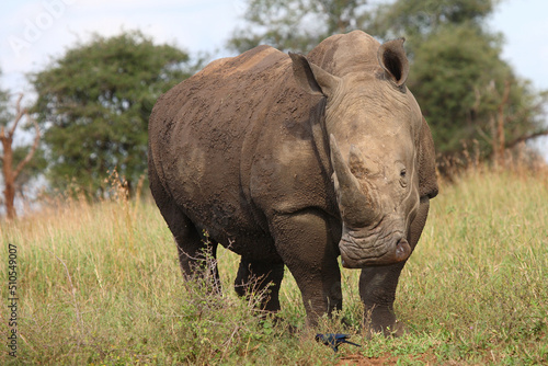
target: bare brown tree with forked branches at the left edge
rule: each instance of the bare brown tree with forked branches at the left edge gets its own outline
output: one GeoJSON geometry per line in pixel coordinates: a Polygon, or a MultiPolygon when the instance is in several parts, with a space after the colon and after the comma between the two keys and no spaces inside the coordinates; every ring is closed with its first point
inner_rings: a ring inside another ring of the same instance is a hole
{"type": "Polygon", "coordinates": [[[13,123],[8,126],[11,116],[8,112],[5,103],[8,101],[8,93],[5,91],[0,91],[0,102],[1,102],[1,121],[0,121],[0,141],[2,144],[2,155],[0,156],[0,162],[2,163],[2,176],[4,182],[4,206],[5,214],[9,220],[16,217],[15,210],[15,193],[18,192],[19,184],[18,178],[23,171],[23,168],[28,164],[33,159],[33,156],[38,148],[39,142],[39,127],[36,121],[31,118],[26,108],[21,107],[21,100],[23,94],[21,94],[16,101],[15,115],[13,116],[13,123]],[[35,127],[34,142],[30,147],[21,147],[19,149],[13,148],[13,138],[19,123],[23,117],[26,117],[35,127]],[[21,152],[24,151],[24,157],[21,157],[21,152]]]}

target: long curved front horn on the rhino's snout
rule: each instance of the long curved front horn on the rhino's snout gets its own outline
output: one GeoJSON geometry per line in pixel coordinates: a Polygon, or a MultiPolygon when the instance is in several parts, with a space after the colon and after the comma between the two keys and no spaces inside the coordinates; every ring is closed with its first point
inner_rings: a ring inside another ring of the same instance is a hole
{"type": "Polygon", "coordinates": [[[333,135],[330,136],[330,147],[331,164],[336,182],[335,191],[343,221],[354,228],[366,227],[377,217],[374,199],[366,186],[359,184],[344,162],[333,135]]]}

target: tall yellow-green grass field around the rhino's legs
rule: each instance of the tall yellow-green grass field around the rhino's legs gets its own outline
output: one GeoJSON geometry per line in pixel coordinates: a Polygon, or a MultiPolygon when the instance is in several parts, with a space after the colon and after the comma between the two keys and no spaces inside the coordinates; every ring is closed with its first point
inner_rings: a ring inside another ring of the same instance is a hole
{"type": "Polygon", "coordinates": [[[339,322],[304,329],[289,274],[277,322],[235,295],[238,258],[226,250],[218,255],[222,296],[183,284],[150,201],[72,199],[1,222],[0,364],[548,364],[548,175],[472,171],[442,184],[431,207],[397,294],[407,335],[366,338],[358,271],[343,270],[341,316],[362,347],[336,354],[313,334],[340,331],[339,322]],[[5,346],[9,243],[16,247],[16,357],[5,346]]]}

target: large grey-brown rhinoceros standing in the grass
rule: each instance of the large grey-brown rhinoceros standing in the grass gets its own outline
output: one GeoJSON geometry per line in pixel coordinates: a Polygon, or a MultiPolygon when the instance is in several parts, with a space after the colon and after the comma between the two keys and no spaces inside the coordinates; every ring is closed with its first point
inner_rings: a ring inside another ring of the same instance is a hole
{"type": "Polygon", "coordinates": [[[277,311],[286,265],[315,324],[342,307],[341,256],[362,268],[364,321],[397,329],[398,278],[437,194],[408,72],[403,38],[355,31],[307,56],[259,46],[163,94],[149,122],[150,190],[184,276],[220,243],[241,255],[237,293],[261,278],[261,306],[277,311]]]}

